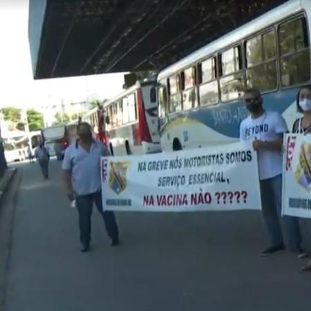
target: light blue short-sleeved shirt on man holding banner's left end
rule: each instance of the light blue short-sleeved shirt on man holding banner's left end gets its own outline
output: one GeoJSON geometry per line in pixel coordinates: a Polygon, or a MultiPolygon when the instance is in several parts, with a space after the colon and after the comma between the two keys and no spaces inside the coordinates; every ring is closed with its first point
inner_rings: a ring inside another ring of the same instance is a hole
{"type": "Polygon", "coordinates": [[[110,156],[110,153],[98,140],[94,140],[90,152],[76,143],[66,149],[62,168],[71,171],[73,191],[78,196],[100,191],[100,157],[102,156],[110,156]]]}

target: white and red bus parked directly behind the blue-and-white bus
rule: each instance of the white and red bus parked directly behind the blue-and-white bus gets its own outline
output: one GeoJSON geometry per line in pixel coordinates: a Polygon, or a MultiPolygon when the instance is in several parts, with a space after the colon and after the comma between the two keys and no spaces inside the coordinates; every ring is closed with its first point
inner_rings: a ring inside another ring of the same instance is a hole
{"type": "MultiPolygon", "coordinates": [[[[104,106],[82,115],[79,121],[93,126],[112,155],[139,155],[161,151],[158,131],[156,80],[136,82],[104,106]]],[[[78,120],[68,124],[75,131],[78,120]]]]}

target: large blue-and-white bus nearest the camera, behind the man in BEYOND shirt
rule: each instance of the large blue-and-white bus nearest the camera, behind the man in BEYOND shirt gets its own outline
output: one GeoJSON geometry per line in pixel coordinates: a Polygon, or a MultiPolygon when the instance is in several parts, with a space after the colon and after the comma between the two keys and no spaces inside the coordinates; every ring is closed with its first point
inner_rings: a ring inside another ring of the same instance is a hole
{"type": "Polygon", "coordinates": [[[310,23],[311,1],[291,0],[162,70],[162,150],[237,141],[245,88],[258,88],[265,109],[291,126],[297,92],[310,84],[310,23]]]}

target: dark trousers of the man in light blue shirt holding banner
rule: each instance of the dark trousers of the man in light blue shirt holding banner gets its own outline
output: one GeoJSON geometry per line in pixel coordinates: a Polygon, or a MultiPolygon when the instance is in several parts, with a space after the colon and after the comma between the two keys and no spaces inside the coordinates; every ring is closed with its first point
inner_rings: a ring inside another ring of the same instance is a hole
{"type": "Polygon", "coordinates": [[[82,244],[89,244],[91,241],[91,216],[93,210],[93,202],[97,210],[102,214],[106,232],[112,241],[119,238],[117,222],[113,211],[103,211],[102,209],[102,193],[86,194],[85,196],[77,196],[77,209],[79,211],[79,229],[80,241],[82,244]]]}

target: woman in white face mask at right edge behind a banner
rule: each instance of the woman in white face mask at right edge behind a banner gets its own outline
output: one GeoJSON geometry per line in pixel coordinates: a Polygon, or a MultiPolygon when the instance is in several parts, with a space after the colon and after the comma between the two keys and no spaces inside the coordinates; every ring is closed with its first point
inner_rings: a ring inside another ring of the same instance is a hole
{"type": "MultiPolygon", "coordinates": [[[[303,113],[292,126],[292,133],[311,134],[311,86],[303,86],[296,99],[297,110],[303,113]]],[[[310,221],[310,220],[306,220],[310,221]]],[[[304,265],[301,270],[311,271],[311,260],[304,265]]]]}

